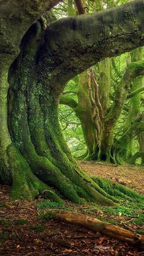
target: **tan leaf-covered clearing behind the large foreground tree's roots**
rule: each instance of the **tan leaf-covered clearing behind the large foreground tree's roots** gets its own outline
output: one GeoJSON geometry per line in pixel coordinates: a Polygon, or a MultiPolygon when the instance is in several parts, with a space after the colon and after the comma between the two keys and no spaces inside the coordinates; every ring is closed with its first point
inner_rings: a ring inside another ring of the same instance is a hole
{"type": "Polygon", "coordinates": [[[112,178],[128,188],[144,194],[144,167],[141,166],[113,166],[112,164],[79,161],[79,166],[90,176],[112,178]]]}

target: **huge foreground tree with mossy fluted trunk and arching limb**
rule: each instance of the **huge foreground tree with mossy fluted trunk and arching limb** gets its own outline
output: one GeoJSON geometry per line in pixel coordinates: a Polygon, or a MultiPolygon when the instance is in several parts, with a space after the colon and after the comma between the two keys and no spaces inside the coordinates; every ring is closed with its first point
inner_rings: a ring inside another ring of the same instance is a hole
{"type": "Polygon", "coordinates": [[[59,98],[73,76],[104,57],[144,45],[144,3],[136,0],[45,28],[40,16],[56,2],[0,3],[0,181],[12,185],[13,197],[34,199],[43,192],[58,202],[64,196],[111,205],[112,197],[79,169],[63,141],[59,98]]]}

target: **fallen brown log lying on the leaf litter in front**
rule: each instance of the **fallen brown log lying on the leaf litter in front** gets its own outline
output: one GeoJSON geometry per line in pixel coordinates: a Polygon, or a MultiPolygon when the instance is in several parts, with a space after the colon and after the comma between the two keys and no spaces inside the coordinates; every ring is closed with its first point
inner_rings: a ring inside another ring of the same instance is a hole
{"type": "Polygon", "coordinates": [[[99,221],[99,219],[92,218],[85,214],[76,214],[69,211],[48,210],[46,211],[45,215],[57,221],[67,222],[73,225],[81,225],[82,227],[92,230],[93,232],[99,232],[111,238],[129,243],[132,246],[144,249],[143,235],[123,229],[118,225],[99,221]]]}

